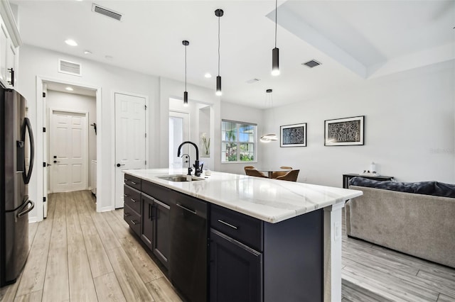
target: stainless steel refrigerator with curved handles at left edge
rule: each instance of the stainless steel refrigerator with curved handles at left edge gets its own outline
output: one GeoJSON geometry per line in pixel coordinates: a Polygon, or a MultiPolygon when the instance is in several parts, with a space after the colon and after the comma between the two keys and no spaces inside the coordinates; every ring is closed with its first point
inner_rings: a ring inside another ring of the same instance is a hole
{"type": "Polygon", "coordinates": [[[28,257],[28,181],[34,144],[26,99],[0,86],[0,286],[16,282],[28,257]]]}

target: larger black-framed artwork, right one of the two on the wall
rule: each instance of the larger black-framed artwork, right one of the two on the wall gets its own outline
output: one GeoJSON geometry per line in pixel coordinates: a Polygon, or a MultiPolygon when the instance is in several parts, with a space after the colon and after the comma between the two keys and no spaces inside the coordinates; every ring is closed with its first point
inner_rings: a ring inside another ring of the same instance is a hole
{"type": "Polygon", "coordinates": [[[324,121],[325,146],[364,145],[365,116],[324,121]]]}

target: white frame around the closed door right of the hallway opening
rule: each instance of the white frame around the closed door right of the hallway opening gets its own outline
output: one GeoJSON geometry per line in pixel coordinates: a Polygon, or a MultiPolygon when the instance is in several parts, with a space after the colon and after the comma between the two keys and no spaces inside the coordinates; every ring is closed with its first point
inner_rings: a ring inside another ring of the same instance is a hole
{"type": "MultiPolygon", "coordinates": [[[[139,98],[144,98],[145,99],[145,106],[146,106],[146,110],[145,110],[145,130],[146,130],[146,137],[145,137],[145,160],[146,160],[146,164],[145,164],[145,168],[146,169],[149,169],[149,163],[150,163],[150,159],[149,159],[149,139],[150,139],[150,135],[151,135],[151,131],[150,128],[149,128],[149,113],[148,111],[151,110],[150,109],[150,106],[149,106],[149,96],[146,96],[144,94],[135,94],[134,92],[128,92],[128,91],[119,91],[119,90],[114,90],[112,91],[111,93],[111,100],[112,102],[114,103],[114,110],[112,110],[112,113],[111,113],[111,118],[112,118],[112,121],[113,123],[112,124],[115,124],[115,94],[125,94],[127,96],[136,96],[136,97],[139,97],[139,98]]],[[[116,170],[117,167],[116,167],[116,164],[117,162],[115,161],[116,160],[116,157],[115,157],[115,125],[114,127],[111,128],[111,137],[114,138],[114,140],[112,140],[112,148],[111,148],[111,158],[112,158],[112,162],[111,162],[111,181],[112,181],[112,184],[114,184],[114,186],[112,186],[112,191],[111,191],[111,194],[113,196],[113,198],[111,198],[111,206],[112,206],[112,210],[115,210],[115,175],[116,175],[116,170]]],[[[99,163],[98,163],[99,164],[99,163]]],[[[101,179],[99,179],[97,177],[97,181],[101,179]]],[[[98,189],[97,189],[97,194],[98,194],[98,189]]]]}

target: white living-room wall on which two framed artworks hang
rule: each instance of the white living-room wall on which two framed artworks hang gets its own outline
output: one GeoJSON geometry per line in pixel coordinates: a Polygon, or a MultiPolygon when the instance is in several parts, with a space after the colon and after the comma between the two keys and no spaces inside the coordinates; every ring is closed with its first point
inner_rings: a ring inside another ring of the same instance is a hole
{"type": "MultiPolygon", "coordinates": [[[[301,169],[298,181],[311,184],[342,186],[342,174],[363,172],[371,162],[397,181],[454,183],[454,80],[454,64],[445,62],[369,79],[323,99],[297,99],[275,109],[274,128],[307,123],[308,147],[270,143],[264,159],[301,169]],[[325,147],[324,121],[351,116],[365,116],[365,145],[325,147]]],[[[270,116],[267,110],[264,118],[270,116]]]]}

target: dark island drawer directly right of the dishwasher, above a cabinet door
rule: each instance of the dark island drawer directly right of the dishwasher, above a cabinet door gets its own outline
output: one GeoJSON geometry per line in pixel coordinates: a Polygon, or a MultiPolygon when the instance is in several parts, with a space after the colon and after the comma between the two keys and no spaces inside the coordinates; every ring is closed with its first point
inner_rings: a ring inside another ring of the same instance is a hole
{"type": "Polygon", "coordinates": [[[210,226],[262,252],[262,221],[227,208],[211,205],[210,226]]]}

